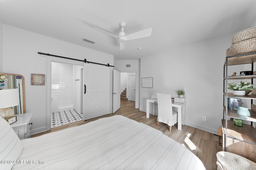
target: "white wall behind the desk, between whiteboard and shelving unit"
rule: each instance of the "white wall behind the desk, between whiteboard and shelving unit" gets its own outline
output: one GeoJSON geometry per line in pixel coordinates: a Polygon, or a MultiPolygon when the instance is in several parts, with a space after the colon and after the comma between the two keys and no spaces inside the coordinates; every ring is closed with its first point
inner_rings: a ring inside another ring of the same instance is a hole
{"type": "Polygon", "coordinates": [[[150,94],[178,96],[176,90],[184,89],[185,124],[217,134],[223,115],[223,65],[230,41],[231,37],[223,37],[142,58],[140,77],[153,77],[153,88],[140,88],[140,110],[146,111],[150,94]]]}

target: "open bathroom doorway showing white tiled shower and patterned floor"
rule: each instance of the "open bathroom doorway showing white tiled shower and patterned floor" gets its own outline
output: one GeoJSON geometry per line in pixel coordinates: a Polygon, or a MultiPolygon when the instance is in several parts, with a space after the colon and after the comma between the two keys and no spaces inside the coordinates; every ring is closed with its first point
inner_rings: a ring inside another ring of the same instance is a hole
{"type": "Polygon", "coordinates": [[[82,68],[80,65],[52,62],[51,128],[83,119],[82,68]]]}

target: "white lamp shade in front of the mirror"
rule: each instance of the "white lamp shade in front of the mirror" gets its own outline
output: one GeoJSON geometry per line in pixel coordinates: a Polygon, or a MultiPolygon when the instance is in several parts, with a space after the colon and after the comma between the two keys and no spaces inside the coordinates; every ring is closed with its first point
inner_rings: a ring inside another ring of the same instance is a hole
{"type": "Polygon", "coordinates": [[[19,105],[18,88],[0,90],[0,109],[19,105]]]}

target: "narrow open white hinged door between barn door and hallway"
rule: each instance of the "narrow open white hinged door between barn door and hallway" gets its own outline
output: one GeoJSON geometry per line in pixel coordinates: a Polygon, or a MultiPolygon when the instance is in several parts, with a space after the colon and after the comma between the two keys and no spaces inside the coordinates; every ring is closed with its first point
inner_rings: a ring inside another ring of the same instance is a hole
{"type": "Polygon", "coordinates": [[[113,70],[113,113],[120,109],[120,93],[120,72],[117,70],[113,70]]]}

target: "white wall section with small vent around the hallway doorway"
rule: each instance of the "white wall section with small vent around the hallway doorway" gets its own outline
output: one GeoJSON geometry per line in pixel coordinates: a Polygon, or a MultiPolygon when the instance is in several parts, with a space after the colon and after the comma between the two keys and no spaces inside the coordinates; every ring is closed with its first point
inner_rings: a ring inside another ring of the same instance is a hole
{"type": "Polygon", "coordinates": [[[115,68],[120,72],[136,72],[136,102],[135,108],[140,106],[140,61],[139,60],[115,60],[115,68]],[[126,64],[130,64],[131,67],[126,67],[126,64]]]}

